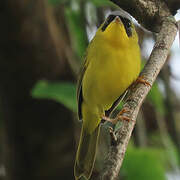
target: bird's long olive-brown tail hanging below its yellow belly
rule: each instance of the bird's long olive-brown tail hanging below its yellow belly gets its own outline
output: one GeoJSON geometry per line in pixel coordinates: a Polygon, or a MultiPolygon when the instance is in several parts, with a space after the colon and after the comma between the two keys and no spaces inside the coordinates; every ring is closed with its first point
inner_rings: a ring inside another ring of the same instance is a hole
{"type": "Polygon", "coordinates": [[[84,127],[81,130],[80,142],[76,154],[74,165],[74,175],[76,180],[81,176],[90,178],[95,162],[96,148],[98,144],[100,125],[89,134],[84,127]]]}

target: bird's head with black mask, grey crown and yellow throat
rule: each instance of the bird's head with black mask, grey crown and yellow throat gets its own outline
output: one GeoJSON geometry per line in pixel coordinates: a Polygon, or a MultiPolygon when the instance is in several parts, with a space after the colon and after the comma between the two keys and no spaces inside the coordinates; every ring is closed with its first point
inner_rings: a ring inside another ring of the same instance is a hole
{"type": "Polygon", "coordinates": [[[99,27],[96,36],[120,46],[138,41],[131,17],[124,11],[112,12],[99,27]]]}

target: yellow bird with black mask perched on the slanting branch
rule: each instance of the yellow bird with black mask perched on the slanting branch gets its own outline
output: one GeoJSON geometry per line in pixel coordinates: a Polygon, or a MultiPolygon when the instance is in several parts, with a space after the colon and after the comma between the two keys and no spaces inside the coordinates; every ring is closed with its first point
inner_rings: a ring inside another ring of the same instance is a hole
{"type": "Polygon", "coordinates": [[[140,59],[131,17],[124,11],[112,12],[87,48],[78,83],[78,116],[83,125],[74,166],[76,179],[90,178],[101,119],[137,79],[140,59]]]}

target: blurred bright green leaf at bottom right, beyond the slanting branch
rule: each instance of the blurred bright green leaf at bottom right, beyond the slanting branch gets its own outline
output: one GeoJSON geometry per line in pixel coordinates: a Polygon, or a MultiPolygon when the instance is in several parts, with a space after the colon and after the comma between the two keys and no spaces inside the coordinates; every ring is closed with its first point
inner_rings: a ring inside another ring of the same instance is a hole
{"type": "Polygon", "coordinates": [[[128,148],[121,169],[126,180],[165,180],[161,149],[128,148]]]}

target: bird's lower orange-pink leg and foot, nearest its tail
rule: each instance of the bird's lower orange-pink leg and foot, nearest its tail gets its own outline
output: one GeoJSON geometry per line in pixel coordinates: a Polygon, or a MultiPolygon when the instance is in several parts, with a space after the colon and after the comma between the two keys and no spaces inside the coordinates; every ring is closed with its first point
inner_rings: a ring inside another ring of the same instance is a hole
{"type": "Polygon", "coordinates": [[[105,121],[108,121],[108,122],[111,122],[112,124],[116,124],[119,120],[125,120],[125,121],[128,121],[130,122],[131,119],[127,116],[124,116],[123,114],[124,113],[127,113],[127,112],[130,112],[130,110],[128,108],[123,108],[119,114],[117,115],[117,117],[115,118],[109,118],[109,117],[106,117],[106,116],[102,116],[102,119],[105,120],[105,121]]]}

